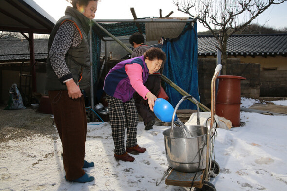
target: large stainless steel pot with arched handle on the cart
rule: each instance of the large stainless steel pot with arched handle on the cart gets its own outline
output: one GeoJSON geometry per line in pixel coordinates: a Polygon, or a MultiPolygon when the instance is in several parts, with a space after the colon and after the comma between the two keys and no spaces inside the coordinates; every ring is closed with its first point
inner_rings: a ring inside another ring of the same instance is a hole
{"type": "Polygon", "coordinates": [[[177,104],[171,128],[163,132],[166,158],[169,166],[179,172],[197,172],[206,168],[206,134],[207,127],[199,122],[199,107],[197,102],[197,125],[186,125],[192,137],[185,137],[181,127],[174,127],[174,116],[182,101],[192,98],[184,96],[177,104]]]}

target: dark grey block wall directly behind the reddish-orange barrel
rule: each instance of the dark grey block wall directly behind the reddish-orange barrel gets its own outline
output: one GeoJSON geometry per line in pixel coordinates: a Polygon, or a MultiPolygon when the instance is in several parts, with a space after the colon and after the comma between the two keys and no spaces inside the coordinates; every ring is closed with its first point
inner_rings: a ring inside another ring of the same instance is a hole
{"type": "MultiPolygon", "coordinates": [[[[259,98],[260,95],[260,64],[240,63],[240,58],[229,58],[227,75],[245,77],[241,80],[241,96],[259,98]]],[[[216,58],[198,59],[198,86],[200,102],[207,107],[211,101],[211,79],[216,67],[216,58]]]]}

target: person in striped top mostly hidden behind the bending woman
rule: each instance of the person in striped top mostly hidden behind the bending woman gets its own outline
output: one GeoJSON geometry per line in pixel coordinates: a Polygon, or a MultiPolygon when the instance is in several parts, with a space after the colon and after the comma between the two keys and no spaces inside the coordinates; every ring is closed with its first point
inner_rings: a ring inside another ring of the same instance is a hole
{"type": "MultiPolygon", "coordinates": [[[[137,32],[130,36],[129,43],[134,47],[131,58],[139,57],[144,54],[147,50],[151,47],[144,44],[144,36],[143,34],[137,32]]],[[[150,90],[150,92],[154,95],[158,95],[161,88],[161,74],[163,68],[160,71],[156,71],[153,74],[150,74],[145,82],[144,86],[150,90]]],[[[137,92],[134,94],[134,99],[136,103],[136,108],[139,115],[143,118],[144,122],[144,130],[152,129],[153,125],[155,124],[155,114],[152,110],[147,107],[146,100],[142,98],[137,92]]]]}

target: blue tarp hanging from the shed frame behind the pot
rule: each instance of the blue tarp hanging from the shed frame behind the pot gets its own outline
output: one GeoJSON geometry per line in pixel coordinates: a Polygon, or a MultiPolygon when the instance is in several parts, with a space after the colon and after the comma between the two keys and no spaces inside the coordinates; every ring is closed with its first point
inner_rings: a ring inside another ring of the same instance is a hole
{"type": "MultiPolygon", "coordinates": [[[[163,74],[181,89],[199,101],[198,93],[198,44],[197,23],[185,30],[179,37],[165,39],[162,50],[166,53],[163,74]]],[[[183,97],[177,90],[166,84],[169,102],[175,107],[183,97]]],[[[196,105],[186,100],[178,109],[197,109],[196,105]]]]}

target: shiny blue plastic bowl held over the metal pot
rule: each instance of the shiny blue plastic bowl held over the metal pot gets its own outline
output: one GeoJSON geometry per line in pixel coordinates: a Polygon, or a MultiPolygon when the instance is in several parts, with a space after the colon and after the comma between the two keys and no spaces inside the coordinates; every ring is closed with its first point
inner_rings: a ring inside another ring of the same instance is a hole
{"type": "MultiPolygon", "coordinates": [[[[158,98],[155,101],[155,105],[153,107],[154,114],[161,120],[162,122],[171,122],[172,115],[174,112],[173,106],[163,98],[158,98]]],[[[176,121],[177,115],[175,115],[174,121],[176,121]]]]}

